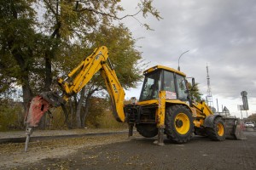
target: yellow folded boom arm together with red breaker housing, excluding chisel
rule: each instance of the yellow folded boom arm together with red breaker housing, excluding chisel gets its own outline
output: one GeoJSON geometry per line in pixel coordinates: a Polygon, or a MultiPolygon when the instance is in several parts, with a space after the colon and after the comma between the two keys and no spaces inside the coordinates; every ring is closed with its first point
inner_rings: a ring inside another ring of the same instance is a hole
{"type": "Polygon", "coordinates": [[[115,71],[107,64],[107,61],[108,48],[105,46],[96,48],[66,78],[58,78],[57,82],[61,86],[62,96],[50,91],[33,98],[26,116],[26,126],[37,127],[41,117],[50,107],[64,105],[73,94],[78,94],[98,71],[101,72],[111,97],[113,116],[118,122],[125,122],[125,91],[119,83],[115,71]],[[68,80],[71,81],[68,82],[68,80]]]}

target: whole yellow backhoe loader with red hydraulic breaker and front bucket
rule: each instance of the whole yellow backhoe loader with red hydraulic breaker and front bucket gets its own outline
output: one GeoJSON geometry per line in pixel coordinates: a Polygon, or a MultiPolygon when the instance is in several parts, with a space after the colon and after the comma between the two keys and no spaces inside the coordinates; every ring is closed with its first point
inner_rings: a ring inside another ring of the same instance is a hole
{"type": "Polygon", "coordinates": [[[214,115],[204,101],[196,103],[190,96],[186,75],[175,69],[156,65],[143,72],[143,88],[138,102],[124,105],[125,91],[108,58],[108,48],[96,48],[67,77],[57,80],[61,95],[55,91],[44,92],[32,99],[26,115],[26,146],[32,128],[51,107],[65,105],[67,100],[78,94],[90,79],[100,71],[111,96],[113,116],[118,122],[129,124],[129,136],[133,127],[143,137],[158,136],[154,144],[164,144],[164,134],[177,143],[188,142],[193,133],[214,140],[226,138],[244,139],[236,118],[214,115]]]}

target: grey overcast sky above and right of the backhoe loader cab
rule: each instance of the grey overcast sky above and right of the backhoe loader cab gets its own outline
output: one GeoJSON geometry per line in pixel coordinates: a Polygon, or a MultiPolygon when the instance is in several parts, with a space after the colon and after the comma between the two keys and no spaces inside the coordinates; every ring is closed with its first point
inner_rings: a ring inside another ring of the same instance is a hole
{"type": "MultiPolygon", "coordinates": [[[[137,0],[125,0],[125,12],[137,11],[137,0]]],[[[207,94],[207,65],[211,80],[213,104],[219,110],[225,105],[241,116],[241,91],[247,91],[249,111],[256,113],[256,2],[255,0],[154,0],[163,20],[148,17],[154,31],[146,31],[135,19],[123,20],[148,66],[166,65],[177,69],[180,54],[181,71],[195,77],[201,93],[207,94]]],[[[122,14],[120,14],[122,15],[122,14]]],[[[139,96],[140,87],[126,91],[139,96]]],[[[243,116],[246,112],[243,111],[243,116]]]]}

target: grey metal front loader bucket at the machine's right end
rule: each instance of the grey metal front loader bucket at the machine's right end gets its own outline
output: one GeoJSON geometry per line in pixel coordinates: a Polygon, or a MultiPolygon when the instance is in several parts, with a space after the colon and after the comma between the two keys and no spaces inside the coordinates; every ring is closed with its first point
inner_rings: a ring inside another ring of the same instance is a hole
{"type": "Polygon", "coordinates": [[[226,139],[237,139],[244,140],[247,139],[243,133],[244,126],[243,123],[237,118],[224,117],[223,118],[226,129],[226,139]]]}

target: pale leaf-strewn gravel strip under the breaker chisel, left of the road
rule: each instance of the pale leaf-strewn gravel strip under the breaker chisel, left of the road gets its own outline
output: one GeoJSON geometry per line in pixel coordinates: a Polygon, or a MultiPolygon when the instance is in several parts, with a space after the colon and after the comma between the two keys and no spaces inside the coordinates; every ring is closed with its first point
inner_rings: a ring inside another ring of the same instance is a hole
{"type": "MultiPolygon", "coordinates": [[[[52,139],[30,143],[27,152],[24,151],[24,143],[0,144],[0,169],[20,169],[23,167],[27,169],[34,162],[55,159],[61,156],[75,154],[83,148],[90,149],[97,145],[123,142],[126,139],[127,134],[75,139],[52,139]]],[[[40,169],[47,169],[47,167],[40,166],[40,169]]]]}

